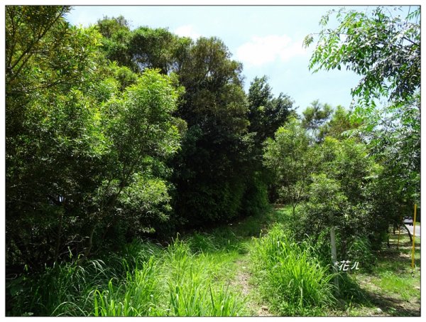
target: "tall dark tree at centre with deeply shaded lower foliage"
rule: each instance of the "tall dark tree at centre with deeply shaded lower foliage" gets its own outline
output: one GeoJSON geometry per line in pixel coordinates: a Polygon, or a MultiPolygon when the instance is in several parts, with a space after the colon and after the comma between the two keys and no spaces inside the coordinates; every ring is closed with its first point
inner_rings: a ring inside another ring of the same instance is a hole
{"type": "Polygon", "coordinates": [[[229,220],[241,212],[251,174],[245,136],[247,105],[241,64],[217,38],[187,43],[177,70],[185,87],[178,117],[187,122],[175,159],[175,208],[192,225],[229,220]]]}

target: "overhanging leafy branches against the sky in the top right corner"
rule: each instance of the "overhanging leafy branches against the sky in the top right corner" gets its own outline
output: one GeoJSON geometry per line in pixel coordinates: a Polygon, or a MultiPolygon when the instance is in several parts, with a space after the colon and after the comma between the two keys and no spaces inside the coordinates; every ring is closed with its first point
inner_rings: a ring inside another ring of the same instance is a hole
{"type": "MultiPolygon", "coordinates": [[[[388,97],[393,102],[407,102],[420,88],[420,7],[406,18],[396,14],[397,7],[379,6],[370,12],[339,9],[322,17],[322,30],[310,60],[317,70],[353,70],[363,78],[352,95],[374,104],[373,99],[388,97]],[[327,28],[330,17],[339,26],[327,28]]],[[[305,38],[310,45],[314,36],[305,38]]]]}

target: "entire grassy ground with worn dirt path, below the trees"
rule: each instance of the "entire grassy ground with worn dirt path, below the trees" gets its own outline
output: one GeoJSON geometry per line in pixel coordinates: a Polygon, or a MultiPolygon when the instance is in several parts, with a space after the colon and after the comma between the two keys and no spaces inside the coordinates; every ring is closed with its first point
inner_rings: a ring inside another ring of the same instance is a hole
{"type": "Polygon", "coordinates": [[[342,277],[288,237],[290,208],[7,283],[13,316],[420,316],[420,237],[391,235],[370,270],[342,277]]]}

